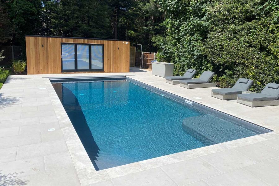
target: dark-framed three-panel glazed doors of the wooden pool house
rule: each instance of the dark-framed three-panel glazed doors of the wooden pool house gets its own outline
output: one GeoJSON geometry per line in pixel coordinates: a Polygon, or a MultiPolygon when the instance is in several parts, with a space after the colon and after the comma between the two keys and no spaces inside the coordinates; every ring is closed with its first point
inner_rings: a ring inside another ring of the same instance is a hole
{"type": "Polygon", "coordinates": [[[104,45],[61,43],[62,72],[104,71],[104,45]]]}

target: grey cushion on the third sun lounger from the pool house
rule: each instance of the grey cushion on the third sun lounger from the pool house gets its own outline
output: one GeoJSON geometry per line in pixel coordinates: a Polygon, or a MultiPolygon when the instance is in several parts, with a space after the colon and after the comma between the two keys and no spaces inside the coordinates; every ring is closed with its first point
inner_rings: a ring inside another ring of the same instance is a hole
{"type": "Polygon", "coordinates": [[[252,84],[253,80],[239,78],[232,88],[212,89],[212,92],[222,95],[241,94],[242,91],[248,91],[252,84]]]}

